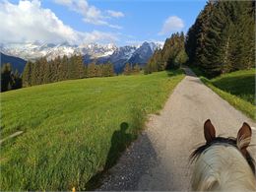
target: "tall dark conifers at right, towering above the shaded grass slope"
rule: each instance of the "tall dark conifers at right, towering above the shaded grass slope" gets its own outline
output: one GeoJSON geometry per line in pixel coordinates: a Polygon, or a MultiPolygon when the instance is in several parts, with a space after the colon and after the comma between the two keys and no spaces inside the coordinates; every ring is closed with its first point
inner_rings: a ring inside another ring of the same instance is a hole
{"type": "Polygon", "coordinates": [[[215,77],[255,64],[255,2],[209,1],[189,29],[189,63],[215,77]]]}

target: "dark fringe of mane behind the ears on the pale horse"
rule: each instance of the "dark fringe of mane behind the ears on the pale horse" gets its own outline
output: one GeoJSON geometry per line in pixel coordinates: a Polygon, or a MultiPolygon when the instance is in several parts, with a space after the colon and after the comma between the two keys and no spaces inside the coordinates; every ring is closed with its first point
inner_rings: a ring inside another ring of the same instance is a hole
{"type": "MultiPolygon", "coordinates": [[[[239,142],[239,141],[237,141],[233,137],[228,137],[228,138],[216,137],[211,143],[206,143],[206,144],[203,144],[203,145],[199,146],[190,155],[190,160],[191,160],[191,162],[193,162],[194,160],[197,160],[202,154],[204,154],[204,152],[206,152],[206,150],[208,148],[210,148],[213,145],[227,144],[227,145],[230,145],[230,146],[236,148],[237,151],[239,151],[239,149],[237,148],[237,142],[239,142]]],[[[255,174],[255,160],[253,160],[253,158],[251,157],[250,153],[248,151],[246,151],[246,154],[242,155],[242,156],[248,162],[248,164],[250,165],[250,167],[252,169],[252,172],[255,174]]]]}

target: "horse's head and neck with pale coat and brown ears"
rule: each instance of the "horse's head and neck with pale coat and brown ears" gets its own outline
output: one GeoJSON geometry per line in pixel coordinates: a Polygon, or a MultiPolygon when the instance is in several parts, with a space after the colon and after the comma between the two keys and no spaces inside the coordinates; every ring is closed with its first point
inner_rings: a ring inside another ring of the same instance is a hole
{"type": "Polygon", "coordinates": [[[191,155],[195,160],[192,189],[195,191],[256,191],[255,163],[247,151],[251,128],[243,123],[236,138],[216,137],[208,119],[206,143],[191,155]]]}

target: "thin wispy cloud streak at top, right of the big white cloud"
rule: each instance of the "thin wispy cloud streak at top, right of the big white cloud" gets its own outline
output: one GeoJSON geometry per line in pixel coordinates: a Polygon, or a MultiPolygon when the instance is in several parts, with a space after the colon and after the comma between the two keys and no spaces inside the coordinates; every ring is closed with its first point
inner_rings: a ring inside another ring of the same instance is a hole
{"type": "Polygon", "coordinates": [[[122,17],[121,15],[123,14],[121,12],[111,11],[111,13],[108,13],[107,11],[108,16],[104,16],[95,6],[89,5],[87,0],[54,0],[54,2],[64,5],[70,10],[81,14],[84,17],[83,21],[86,23],[94,24],[96,26],[108,26],[118,30],[121,29],[121,27],[111,25],[106,21],[109,19],[109,16],[114,18],[122,17]]]}

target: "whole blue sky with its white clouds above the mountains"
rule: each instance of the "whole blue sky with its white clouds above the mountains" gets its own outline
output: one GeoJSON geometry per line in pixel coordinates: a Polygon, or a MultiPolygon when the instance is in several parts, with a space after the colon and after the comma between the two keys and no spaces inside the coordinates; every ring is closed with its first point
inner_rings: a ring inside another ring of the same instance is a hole
{"type": "MultiPolygon", "coordinates": [[[[96,41],[114,42],[118,45],[145,40],[164,41],[172,32],[187,32],[206,4],[204,0],[27,0],[22,3],[19,0],[0,0],[0,2],[0,16],[8,17],[10,20],[13,18],[15,21],[12,23],[19,22],[17,25],[20,29],[16,30],[20,31],[20,34],[2,29],[4,32],[0,35],[16,34],[15,37],[10,37],[10,40],[58,42],[67,38],[67,41],[77,44],[96,41]],[[19,16],[19,12],[24,12],[23,16],[19,16]],[[23,19],[18,19],[20,17],[23,19]],[[30,32],[27,32],[28,28],[31,28],[30,32]],[[24,34],[21,34],[22,32],[24,34]]],[[[4,26],[11,25],[7,21],[2,22],[4,26]]],[[[3,40],[8,41],[8,39],[7,37],[3,40]]]]}

